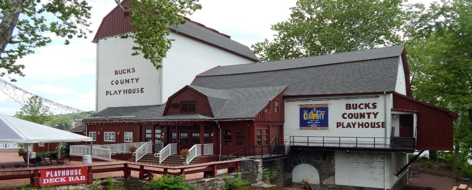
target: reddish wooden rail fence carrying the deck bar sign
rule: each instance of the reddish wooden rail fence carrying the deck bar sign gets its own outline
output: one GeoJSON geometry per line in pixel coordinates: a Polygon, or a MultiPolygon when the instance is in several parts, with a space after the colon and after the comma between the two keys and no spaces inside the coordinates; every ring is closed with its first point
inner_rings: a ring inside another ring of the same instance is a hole
{"type": "Polygon", "coordinates": [[[182,166],[167,166],[167,165],[152,165],[134,162],[117,162],[117,163],[103,163],[92,165],[61,165],[61,166],[41,166],[41,167],[27,167],[27,168],[7,168],[0,169],[0,181],[12,179],[30,178],[31,184],[34,188],[40,188],[41,170],[42,169],[62,169],[62,168],[76,168],[88,167],[88,183],[93,183],[93,173],[116,172],[123,171],[123,177],[128,179],[131,176],[131,171],[139,172],[139,179],[146,179],[150,173],[154,174],[171,174],[171,175],[185,175],[192,173],[202,173],[203,177],[211,176],[217,177],[219,169],[228,168],[228,173],[240,172],[241,160],[227,160],[218,162],[209,162],[194,165],[182,166]],[[106,166],[105,168],[97,168],[106,166]]]}

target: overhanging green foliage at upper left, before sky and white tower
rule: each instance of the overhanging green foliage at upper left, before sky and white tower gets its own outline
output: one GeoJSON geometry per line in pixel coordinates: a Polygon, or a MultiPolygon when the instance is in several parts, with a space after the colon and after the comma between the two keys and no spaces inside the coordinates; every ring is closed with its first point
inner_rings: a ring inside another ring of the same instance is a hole
{"type": "MultiPolygon", "coordinates": [[[[115,0],[121,6],[118,1],[115,0]]],[[[166,38],[170,31],[167,26],[185,23],[182,15],[202,7],[196,3],[198,0],[130,1],[131,7],[126,9],[136,30],[122,37],[131,37],[138,45],[132,48],[132,55],[143,54],[159,69],[172,41],[166,38]]],[[[7,73],[25,76],[22,72],[25,66],[17,64],[17,59],[51,43],[47,33],[66,38],[65,44],[74,37],[86,38],[86,34],[92,33],[87,29],[92,7],[86,0],[1,0],[0,8],[0,68],[6,69],[0,77],[7,73]],[[51,16],[55,18],[50,19],[51,16]]]]}

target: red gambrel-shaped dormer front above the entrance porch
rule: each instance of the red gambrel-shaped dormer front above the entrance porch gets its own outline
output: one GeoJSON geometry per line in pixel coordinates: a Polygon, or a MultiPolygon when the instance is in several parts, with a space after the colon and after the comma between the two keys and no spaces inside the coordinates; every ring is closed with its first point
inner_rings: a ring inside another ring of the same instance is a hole
{"type": "Polygon", "coordinates": [[[195,101],[195,113],[213,117],[208,98],[189,87],[184,88],[169,98],[164,110],[164,116],[181,114],[181,102],[183,101],[195,101]],[[172,104],[178,104],[178,106],[171,107],[172,104]]]}

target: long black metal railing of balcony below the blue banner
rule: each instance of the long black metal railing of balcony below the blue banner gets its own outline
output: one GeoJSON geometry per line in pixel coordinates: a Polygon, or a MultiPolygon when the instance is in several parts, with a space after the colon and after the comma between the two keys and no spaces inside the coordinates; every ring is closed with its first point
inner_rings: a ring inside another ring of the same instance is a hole
{"type": "Polygon", "coordinates": [[[373,149],[414,149],[416,139],[413,137],[315,137],[290,136],[289,146],[373,148],[373,149]]]}

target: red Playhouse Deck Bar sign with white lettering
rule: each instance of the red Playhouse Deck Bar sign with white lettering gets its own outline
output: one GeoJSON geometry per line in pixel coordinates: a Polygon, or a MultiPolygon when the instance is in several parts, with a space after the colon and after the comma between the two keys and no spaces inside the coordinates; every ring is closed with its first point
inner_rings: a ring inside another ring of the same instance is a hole
{"type": "Polygon", "coordinates": [[[41,170],[41,186],[87,182],[87,167],[41,170]]]}

